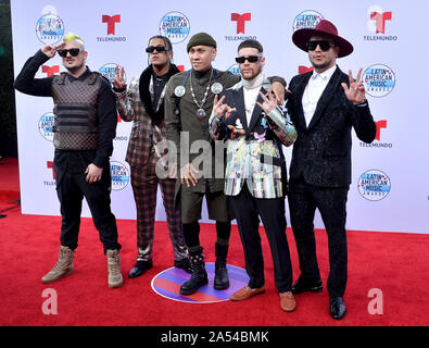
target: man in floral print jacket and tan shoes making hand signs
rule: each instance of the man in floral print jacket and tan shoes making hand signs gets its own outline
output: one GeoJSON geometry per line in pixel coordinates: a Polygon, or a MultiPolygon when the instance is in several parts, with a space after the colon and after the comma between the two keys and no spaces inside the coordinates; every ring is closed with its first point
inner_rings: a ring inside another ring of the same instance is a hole
{"type": "Polygon", "coordinates": [[[241,301],[265,291],[260,216],[268,236],[280,308],[291,312],[292,266],[286,237],[286,161],[282,144],[296,138],[294,126],[272,94],[263,75],[262,45],[245,40],[238,47],[241,82],[215,100],[210,120],[212,136],[227,139],[225,195],[229,197],[244,249],[249,284],[231,295],[241,301]]]}

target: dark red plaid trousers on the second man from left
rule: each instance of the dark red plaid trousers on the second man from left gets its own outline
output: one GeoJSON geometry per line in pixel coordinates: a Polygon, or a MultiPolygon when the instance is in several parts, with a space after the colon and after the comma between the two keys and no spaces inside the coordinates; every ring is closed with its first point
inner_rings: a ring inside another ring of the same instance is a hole
{"type": "Polygon", "coordinates": [[[155,173],[156,161],[157,157],[152,151],[146,165],[131,166],[131,186],[137,207],[137,247],[139,249],[137,260],[152,260],[156,194],[160,184],[174,259],[179,261],[188,257],[188,248],[185,244],[181,211],[174,209],[176,179],[160,179],[155,173]]]}

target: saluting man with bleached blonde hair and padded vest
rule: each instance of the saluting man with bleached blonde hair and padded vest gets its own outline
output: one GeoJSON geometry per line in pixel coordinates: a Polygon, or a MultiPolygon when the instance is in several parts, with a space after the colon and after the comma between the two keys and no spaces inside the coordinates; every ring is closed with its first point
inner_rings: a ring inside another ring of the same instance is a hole
{"type": "Polygon", "coordinates": [[[109,287],[121,287],[121,245],[111,211],[109,161],[117,123],[116,100],[109,80],[88,69],[87,57],[81,37],[70,33],[60,45],[46,45],[28,59],[15,79],[18,91],[52,97],[54,102],[53,170],[61,203],[61,247],[56,264],[41,281],[50,284],[74,272],[85,197],[108,259],[109,287]],[[56,53],[67,72],[35,78],[39,66],[56,53]]]}

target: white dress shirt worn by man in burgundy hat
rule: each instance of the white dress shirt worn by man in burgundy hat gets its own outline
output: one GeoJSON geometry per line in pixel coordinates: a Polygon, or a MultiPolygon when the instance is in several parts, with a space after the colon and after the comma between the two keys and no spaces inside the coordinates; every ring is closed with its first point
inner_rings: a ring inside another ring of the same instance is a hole
{"type": "Polygon", "coordinates": [[[336,69],[337,65],[333,65],[332,67],[329,67],[320,74],[318,74],[316,71],[313,71],[313,75],[308,79],[308,84],[306,85],[304,94],[302,96],[302,107],[304,110],[304,117],[307,127],[312,122],[320,96],[324,92],[326,86],[328,85],[329,79],[332,77],[336,69]]]}

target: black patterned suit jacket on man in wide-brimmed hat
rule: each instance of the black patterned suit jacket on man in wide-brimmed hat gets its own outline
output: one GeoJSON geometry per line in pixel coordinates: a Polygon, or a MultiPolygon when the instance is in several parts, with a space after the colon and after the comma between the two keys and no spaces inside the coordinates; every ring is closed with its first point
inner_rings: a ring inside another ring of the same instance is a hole
{"type": "Polygon", "coordinates": [[[352,127],[357,137],[371,142],[376,124],[369,107],[356,107],[345,97],[341,83],[349,76],[337,66],[324,90],[308,125],[305,124],[302,96],[312,72],[294,76],[290,82],[288,112],[298,138],[293,145],[290,178],[301,175],[305,182],[320,187],[349,187],[351,184],[352,127]]]}

